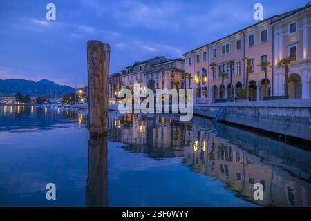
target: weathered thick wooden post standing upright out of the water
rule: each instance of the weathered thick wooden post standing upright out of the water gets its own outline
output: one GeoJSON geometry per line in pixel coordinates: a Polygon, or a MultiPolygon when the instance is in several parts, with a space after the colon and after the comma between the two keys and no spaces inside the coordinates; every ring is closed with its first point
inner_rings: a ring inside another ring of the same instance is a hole
{"type": "Polygon", "coordinates": [[[110,46],[88,41],[88,113],[91,137],[106,135],[110,46]]]}

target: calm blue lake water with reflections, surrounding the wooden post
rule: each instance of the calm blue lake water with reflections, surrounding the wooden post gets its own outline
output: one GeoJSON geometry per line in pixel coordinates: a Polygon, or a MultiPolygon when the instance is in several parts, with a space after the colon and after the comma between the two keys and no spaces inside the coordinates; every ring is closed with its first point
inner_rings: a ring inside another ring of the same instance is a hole
{"type": "Polygon", "coordinates": [[[112,112],[90,140],[86,117],[0,106],[0,206],[311,206],[310,151],[175,115],[112,112]]]}

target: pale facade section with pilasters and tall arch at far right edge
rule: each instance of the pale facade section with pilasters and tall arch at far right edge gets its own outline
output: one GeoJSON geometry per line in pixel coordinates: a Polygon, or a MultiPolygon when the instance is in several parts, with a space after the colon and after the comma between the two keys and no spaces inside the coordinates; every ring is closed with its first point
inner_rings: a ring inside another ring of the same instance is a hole
{"type": "Polygon", "coordinates": [[[279,60],[294,57],[288,76],[290,99],[311,98],[311,8],[296,10],[272,23],[274,29],[274,95],[283,95],[284,68],[279,60]]]}

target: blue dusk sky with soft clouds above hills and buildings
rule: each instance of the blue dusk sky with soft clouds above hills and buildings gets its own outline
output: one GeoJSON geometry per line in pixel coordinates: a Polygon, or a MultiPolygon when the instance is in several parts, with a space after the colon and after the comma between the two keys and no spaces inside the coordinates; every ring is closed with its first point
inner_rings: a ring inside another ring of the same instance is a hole
{"type": "Polygon", "coordinates": [[[86,42],[111,46],[110,73],[135,61],[182,54],[256,23],[255,3],[264,19],[305,6],[281,1],[0,1],[0,79],[50,79],[87,84],[86,42]],[[46,5],[56,21],[46,20],[46,5]]]}

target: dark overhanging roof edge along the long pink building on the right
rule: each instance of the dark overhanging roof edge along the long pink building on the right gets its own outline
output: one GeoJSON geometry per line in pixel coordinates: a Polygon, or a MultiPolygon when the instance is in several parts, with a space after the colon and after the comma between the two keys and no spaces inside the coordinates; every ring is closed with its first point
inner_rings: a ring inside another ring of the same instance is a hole
{"type": "Polygon", "coordinates": [[[198,47],[198,48],[196,48],[196,49],[194,49],[194,50],[191,50],[191,51],[189,51],[189,52],[186,52],[186,53],[183,54],[183,55],[185,56],[185,55],[187,55],[187,54],[189,54],[189,53],[191,53],[191,52],[194,52],[194,51],[196,51],[196,50],[198,50],[198,49],[200,49],[200,48],[203,48],[203,47],[205,47],[205,46],[209,46],[209,45],[211,45],[211,44],[214,44],[214,43],[216,43],[217,41],[221,41],[221,40],[223,40],[223,39],[226,39],[227,37],[236,35],[236,34],[238,34],[239,32],[243,32],[244,30],[247,30],[247,29],[252,28],[252,27],[254,27],[254,26],[258,26],[258,25],[261,24],[261,23],[265,23],[265,22],[270,21],[270,20],[272,20],[272,19],[278,18],[276,21],[271,21],[271,23],[276,23],[277,21],[280,21],[281,19],[285,19],[286,17],[290,17],[291,15],[294,15],[296,12],[300,12],[301,10],[305,10],[305,9],[307,9],[307,8],[309,8],[309,7],[310,7],[310,5],[307,5],[307,6],[303,7],[303,8],[298,8],[298,9],[292,10],[292,11],[290,11],[290,12],[285,12],[285,13],[283,13],[283,14],[281,14],[281,15],[274,15],[274,16],[272,16],[272,17],[269,17],[269,18],[267,18],[267,19],[264,19],[263,21],[259,21],[259,22],[257,22],[257,23],[254,23],[254,24],[251,25],[251,26],[248,26],[248,27],[246,27],[246,28],[243,28],[243,29],[241,29],[241,30],[238,30],[238,31],[234,32],[233,34],[227,35],[226,37],[223,37],[223,38],[218,39],[218,40],[216,40],[216,41],[212,41],[212,42],[210,42],[210,43],[208,43],[208,44],[205,44],[205,45],[203,45],[203,46],[200,46],[200,47],[198,47]]]}

